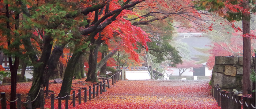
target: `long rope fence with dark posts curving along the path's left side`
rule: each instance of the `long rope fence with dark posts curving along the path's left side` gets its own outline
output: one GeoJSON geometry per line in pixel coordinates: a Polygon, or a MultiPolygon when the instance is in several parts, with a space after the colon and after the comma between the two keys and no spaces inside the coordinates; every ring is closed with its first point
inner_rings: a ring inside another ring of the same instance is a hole
{"type": "MultiPolygon", "coordinates": [[[[116,81],[119,80],[119,74],[120,72],[116,72],[114,73],[110,78],[112,78],[112,85],[114,85],[114,83],[116,83],[116,81]],[[114,83],[113,83],[114,82],[114,83]]],[[[99,83],[97,83],[96,85],[93,84],[93,87],[91,88],[91,86],[89,86],[88,90],[87,88],[83,88],[84,90],[81,92],[81,89],[78,90],[78,93],[75,93],[75,91],[72,91],[72,94],[69,95],[68,92],[65,93],[65,96],[61,96],[61,94],[59,94],[57,97],[54,97],[54,94],[50,94],[48,93],[48,91],[41,86],[41,88],[39,88],[39,91],[37,93],[37,96],[34,98],[34,100],[31,100],[30,96],[27,96],[26,99],[27,101],[22,102],[21,101],[21,94],[16,94],[16,100],[14,101],[9,101],[6,99],[5,97],[5,92],[1,92],[1,109],[7,109],[7,102],[17,102],[17,109],[21,109],[22,108],[22,103],[26,104],[26,108],[27,109],[32,109],[32,105],[31,102],[34,102],[38,96],[39,93],[40,94],[40,108],[44,108],[44,94],[46,96],[50,95],[50,99],[51,99],[51,109],[54,109],[54,100],[58,100],[58,109],[61,109],[61,100],[65,100],[65,109],[68,109],[68,100],[69,97],[72,96],[72,102],[71,104],[73,104],[73,107],[75,107],[75,101],[76,101],[76,95],[78,95],[78,104],[81,104],[81,94],[84,93],[84,102],[87,102],[87,91],[89,94],[89,101],[91,100],[91,94],[93,94],[93,98],[95,98],[95,96],[98,96],[98,93],[100,91],[100,94],[102,94],[102,92],[106,92],[106,83],[107,83],[107,87],[110,88],[110,84],[109,84],[109,78],[108,76],[106,76],[106,78],[102,78],[102,82],[100,81],[99,83]],[[106,80],[106,81],[105,81],[106,80]],[[99,88],[100,87],[100,88],[99,88]],[[95,90],[96,88],[96,90],[95,90]],[[91,89],[93,89],[93,92],[91,92],[91,89]],[[95,95],[96,94],[96,95],[95,95]],[[6,102],[7,101],[7,102],[6,102]]],[[[71,105],[69,104],[69,105],[71,105]]]]}

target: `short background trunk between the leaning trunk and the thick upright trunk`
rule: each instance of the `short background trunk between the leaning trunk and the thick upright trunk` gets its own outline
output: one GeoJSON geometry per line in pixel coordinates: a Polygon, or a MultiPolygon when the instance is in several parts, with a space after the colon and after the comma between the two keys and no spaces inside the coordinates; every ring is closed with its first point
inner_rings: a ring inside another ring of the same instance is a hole
{"type": "Polygon", "coordinates": [[[75,78],[81,79],[84,78],[84,62],[83,62],[83,55],[80,56],[78,60],[78,64],[75,66],[75,78]]]}

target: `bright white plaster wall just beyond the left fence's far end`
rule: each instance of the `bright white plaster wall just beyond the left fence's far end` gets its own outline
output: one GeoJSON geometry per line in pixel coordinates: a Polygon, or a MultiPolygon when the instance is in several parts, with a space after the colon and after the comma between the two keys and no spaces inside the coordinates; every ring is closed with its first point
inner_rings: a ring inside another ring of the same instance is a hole
{"type": "Polygon", "coordinates": [[[147,70],[125,70],[125,77],[127,80],[150,80],[150,73],[147,70]]]}

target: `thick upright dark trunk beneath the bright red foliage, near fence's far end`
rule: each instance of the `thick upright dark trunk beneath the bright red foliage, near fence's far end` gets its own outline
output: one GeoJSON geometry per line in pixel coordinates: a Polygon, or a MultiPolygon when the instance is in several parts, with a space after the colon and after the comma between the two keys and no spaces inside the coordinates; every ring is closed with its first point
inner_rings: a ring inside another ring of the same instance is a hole
{"type": "Polygon", "coordinates": [[[87,73],[87,78],[86,81],[91,81],[91,82],[97,82],[97,56],[98,56],[98,49],[99,46],[95,44],[94,47],[90,47],[90,55],[89,55],[89,70],[87,73]]]}

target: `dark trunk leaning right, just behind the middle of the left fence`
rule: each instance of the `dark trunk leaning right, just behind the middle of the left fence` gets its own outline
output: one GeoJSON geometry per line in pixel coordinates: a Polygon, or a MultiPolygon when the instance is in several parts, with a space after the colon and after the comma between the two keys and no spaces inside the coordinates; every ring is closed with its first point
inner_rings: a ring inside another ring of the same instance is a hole
{"type": "Polygon", "coordinates": [[[72,55],[72,57],[68,61],[68,64],[67,64],[67,67],[66,67],[66,70],[64,73],[63,82],[62,82],[61,89],[60,89],[60,94],[62,96],[65,96],[66,92],[70,93],[70,91],[71,91],[71,84],[72,84],[73,76],[75,73],[75,66],[82,54],[83,54],[83,52],[81,52],[81,51],[76,52],[72,55]]]}

